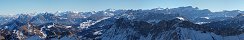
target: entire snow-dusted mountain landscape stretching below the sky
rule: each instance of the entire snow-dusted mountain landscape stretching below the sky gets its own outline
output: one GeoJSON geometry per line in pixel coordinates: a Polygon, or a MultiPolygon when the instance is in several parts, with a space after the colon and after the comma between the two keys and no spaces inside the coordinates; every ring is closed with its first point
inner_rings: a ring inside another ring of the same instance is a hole
{"type": "Polygon", "coordinates": [[[5,40],[244,40],[244,11],[192,6],[0,16],[5,40]]]}

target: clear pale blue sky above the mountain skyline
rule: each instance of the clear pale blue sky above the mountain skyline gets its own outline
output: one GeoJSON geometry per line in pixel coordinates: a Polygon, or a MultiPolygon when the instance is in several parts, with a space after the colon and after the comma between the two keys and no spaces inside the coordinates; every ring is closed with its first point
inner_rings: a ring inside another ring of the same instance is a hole
{"type": "Polygon", "coordinates": [[[211,11],[244,10],[244,0],[0,0],[0,14],[193,6],[211,11]]]}

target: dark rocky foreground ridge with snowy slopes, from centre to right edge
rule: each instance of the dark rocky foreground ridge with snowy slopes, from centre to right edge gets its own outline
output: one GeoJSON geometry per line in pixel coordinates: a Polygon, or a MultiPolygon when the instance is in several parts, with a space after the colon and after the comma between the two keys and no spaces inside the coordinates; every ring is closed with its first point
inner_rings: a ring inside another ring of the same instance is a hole
{"type": "Polygon", "coordinates": [[[218,30],[180,19],[162,20],[157,24],[118,19],[108,29],[103,40],[243,40],[243,31],[218,30]]]}

